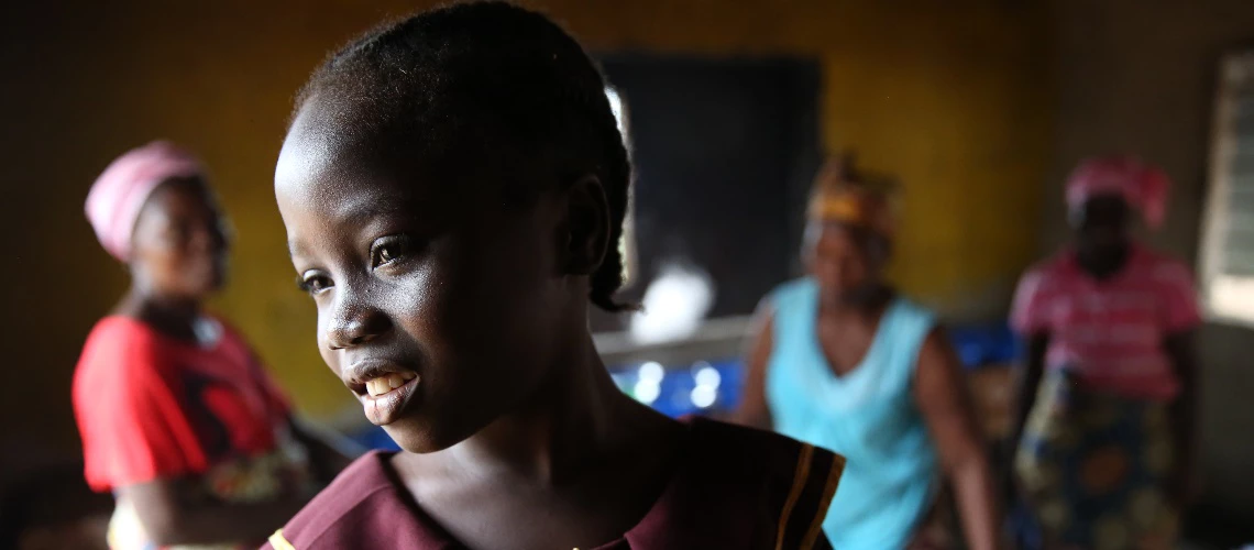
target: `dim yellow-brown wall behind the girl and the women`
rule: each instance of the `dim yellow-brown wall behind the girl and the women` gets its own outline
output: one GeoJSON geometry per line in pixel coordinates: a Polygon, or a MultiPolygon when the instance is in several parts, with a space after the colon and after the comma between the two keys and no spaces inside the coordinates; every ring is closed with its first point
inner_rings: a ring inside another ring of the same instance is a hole
{"type": "MultiPolygon", "coordinates": [[[[3,437],[74,447],[73,363],[127,281],[93,241],[82,199],[113,155],[154,137],[202,153],[236,222],[233,284],[218,308],[301,408],[334,416],[350,401],[314,348],[312,306],[293,289],[273,160],[290,98],[324,53],[421,3],[83,4],[24,3],[0,21],[0,329],[14,381],[0,386],[3,437]]],[[[1036,249],[1047,48],[1041,14],[1007,8],[1023,3],[529,4],[599,51],[820,59],[828,147],[854,147],[904,183],[894,277],[907,292],[959,314],[996,312],[1036,249]]]]}

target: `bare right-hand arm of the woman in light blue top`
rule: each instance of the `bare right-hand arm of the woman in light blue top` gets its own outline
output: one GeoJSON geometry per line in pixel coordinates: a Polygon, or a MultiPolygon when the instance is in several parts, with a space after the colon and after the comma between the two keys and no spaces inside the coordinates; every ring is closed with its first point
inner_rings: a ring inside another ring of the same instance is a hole
{"type": "Polygon", "coordinates": [[[932,331],[919,351],[914,398],[953,485],[967,544],[973,550],[996,549],[1001,514],[987,452],[958,357],[940,329],[932,331]]]}

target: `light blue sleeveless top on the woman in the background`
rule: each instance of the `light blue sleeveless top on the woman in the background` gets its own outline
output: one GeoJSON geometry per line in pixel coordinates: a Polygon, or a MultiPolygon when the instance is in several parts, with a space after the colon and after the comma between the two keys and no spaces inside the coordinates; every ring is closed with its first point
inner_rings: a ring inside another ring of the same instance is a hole
{"type": "Polygon", "coordinates": [[[904,547],[937,485],[935,451],[912,392],[934,317],[894,299],[861,363],[836,376],[818,340],[815,282],[786,283],[770,301],[766,401],[775,428],[848,460],[823,530],[840,550],[904,547]]]}

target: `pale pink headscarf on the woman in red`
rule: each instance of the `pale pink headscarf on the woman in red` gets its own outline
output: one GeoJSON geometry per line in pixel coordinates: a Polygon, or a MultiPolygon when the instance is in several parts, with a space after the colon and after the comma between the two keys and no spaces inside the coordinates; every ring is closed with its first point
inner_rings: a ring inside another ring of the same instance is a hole
{"type": "Polygon", "coordinates": [[[171,178],[203,175],[204,167],[186,149],[157,140],[118,157],[87,194],[87,219],[114,258],[130,258],[130,236],[139,210],[157,187],[171,178]]]}

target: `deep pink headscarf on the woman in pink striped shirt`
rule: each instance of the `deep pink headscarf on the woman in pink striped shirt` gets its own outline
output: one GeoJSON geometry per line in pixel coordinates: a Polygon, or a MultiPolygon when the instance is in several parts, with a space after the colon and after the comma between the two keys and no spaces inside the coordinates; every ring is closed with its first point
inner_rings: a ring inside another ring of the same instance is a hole
{"type": "Polygon", "coordinates": [[[1170,187],[1167,174],[1136,158],[1096,157],[1080,163],[1067,179],[1067,207],[1080,208],[1099,194],[1121,194],[1141,210],[1145,224],[1156,229],[1166,215],[1170,187]]]}

